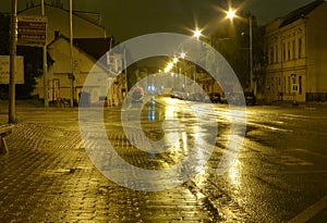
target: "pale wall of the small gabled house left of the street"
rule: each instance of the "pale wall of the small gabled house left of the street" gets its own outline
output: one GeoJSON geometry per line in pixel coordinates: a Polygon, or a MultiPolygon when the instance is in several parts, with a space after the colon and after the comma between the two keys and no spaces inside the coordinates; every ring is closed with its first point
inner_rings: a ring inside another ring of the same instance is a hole
{"type": "MultiPolygon", "coordinates": [[[[66,39],[60,38],[52,45],[48,47],[49,54],[55,60],[53,66],[51,67],[51,74],[49,75],[49,87],[52,85],[53,80],[59,80],[60,87],[60,98],[70,99],[71,84],[68,75],[71,71],[70,67],[70,44],[66,39]]],[[[73,47],[73,73],[75,76],[74,80],[74,99],[78,101],[78,94],[84,87],[85,79],[88,75],[95,75],[94,82],[86,89],[92,95],[90,102],[98,102],[99,97],[107,95],[107,71],[96,64],[96,61],[81,51],[78,48],[73,47]]],[[[37,86],[34,90],[34,95],[39,95],[43,97],[44,84],[43,77],[37,79],[37,86]]],[[[55,89],[53,89],[55,90],[55,89]]],[[[51,94],[50,90],[49,94],[51,94]]],[[[55,90],[56,91],[56,90],[55,90]]],[[[49,95],[49,100],[58,100],[49,95]]]]}

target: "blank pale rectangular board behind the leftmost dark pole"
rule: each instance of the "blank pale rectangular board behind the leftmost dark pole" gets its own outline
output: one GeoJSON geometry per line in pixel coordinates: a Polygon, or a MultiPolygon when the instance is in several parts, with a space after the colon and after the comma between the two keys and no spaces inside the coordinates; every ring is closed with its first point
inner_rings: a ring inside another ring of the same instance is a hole
{"type": "MultiPolygon", "coordinates": [[[[0,55],[0,84],[9,84],[10,55],[0,55]]],[[[16,55],[15,84],[24,84],[24,58],[16,55]]]]}

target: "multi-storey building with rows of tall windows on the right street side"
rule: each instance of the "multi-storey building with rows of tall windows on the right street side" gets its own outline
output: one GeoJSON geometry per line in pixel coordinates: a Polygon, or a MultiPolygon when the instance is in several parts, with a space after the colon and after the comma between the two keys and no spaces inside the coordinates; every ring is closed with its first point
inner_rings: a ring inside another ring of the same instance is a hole
{"type": "Polygon", "coordinates": [[[327,2],[316,0],[267,24],[268,100],[327,100],[327,2]]]}

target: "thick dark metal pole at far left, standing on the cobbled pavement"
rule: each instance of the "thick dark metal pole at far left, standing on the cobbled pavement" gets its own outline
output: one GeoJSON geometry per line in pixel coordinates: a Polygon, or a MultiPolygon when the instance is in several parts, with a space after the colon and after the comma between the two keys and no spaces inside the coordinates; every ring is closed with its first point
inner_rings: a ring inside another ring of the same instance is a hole
{"type": "Polygon", "coordinates": [[[17,29],[17,0],[11,1],[10,76],[9,76],[9,123],[16,122],[15,111],[15,59],[17,29]]]}

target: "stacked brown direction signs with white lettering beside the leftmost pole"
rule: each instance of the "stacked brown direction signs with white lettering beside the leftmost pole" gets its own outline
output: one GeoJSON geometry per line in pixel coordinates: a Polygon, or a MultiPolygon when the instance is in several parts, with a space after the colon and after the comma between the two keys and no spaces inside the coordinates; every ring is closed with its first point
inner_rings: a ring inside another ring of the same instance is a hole
{"type": "Polygon", "coordinates": [[[17,16],[17,45],[43,47],[47,42],[46,16],[19,15],[17,16]]]}

